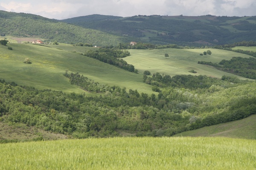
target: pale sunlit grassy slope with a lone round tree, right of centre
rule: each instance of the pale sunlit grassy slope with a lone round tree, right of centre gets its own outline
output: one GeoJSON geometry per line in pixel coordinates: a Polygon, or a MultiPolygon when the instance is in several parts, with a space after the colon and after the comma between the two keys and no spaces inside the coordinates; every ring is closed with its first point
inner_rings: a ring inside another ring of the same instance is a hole
{"type": "MultiPolygon", "coordinates": [[[[174,76],[177,74],[192,74],[190,70],[197,71],[193,75],[207,75],[221,78],[223,75],[235,76],[217,70],[211,66],[198,64],[198,61],[208,61],[218,63],[222,59],[231,59],[232,57],[250,57],[245,54],[239,54],[231,51],[210,49],[211,55],[200,56],[199,54],[209,49],[155,49],[155,50],[129,50],[131,56],[124,60],[134,65],[135,68],[143,73],[148,70],[152,73],[168,74],[174,76]],[[165,58],[169,54],[169,58],[165,58]]],[[[239,77],[240,79],[245,79],[239,77]]]]}

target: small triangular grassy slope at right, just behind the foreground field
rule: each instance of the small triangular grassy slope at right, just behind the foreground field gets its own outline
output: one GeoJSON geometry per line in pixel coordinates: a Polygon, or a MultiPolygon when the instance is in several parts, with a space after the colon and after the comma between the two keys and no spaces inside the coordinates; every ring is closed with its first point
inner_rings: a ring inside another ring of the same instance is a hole
{"type": "Polygon", "coordinates": [[[202,127],[176,134],[175,136],[223,136],[230,138],[256,139],[256,115],[233,122],[202,127]]]}

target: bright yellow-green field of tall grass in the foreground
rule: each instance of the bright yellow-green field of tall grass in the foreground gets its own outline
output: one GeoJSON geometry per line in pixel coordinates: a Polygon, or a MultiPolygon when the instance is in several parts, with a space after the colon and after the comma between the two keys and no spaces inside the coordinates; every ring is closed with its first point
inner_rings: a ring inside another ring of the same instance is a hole
{"type": "Polygon", "coordinates": [[[0,169],[249,170],[256,140],[163,137],[68,139],[0,144],[0,169]]]}

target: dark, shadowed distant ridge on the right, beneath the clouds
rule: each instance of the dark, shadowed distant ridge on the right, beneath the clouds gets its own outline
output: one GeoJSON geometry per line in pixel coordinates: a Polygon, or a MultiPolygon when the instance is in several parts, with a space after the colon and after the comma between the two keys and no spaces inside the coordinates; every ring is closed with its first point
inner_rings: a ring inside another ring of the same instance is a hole
{"type": "Polygon", "coordinates": [[[200,46],[256,40],[255,17],[89,15],[61,21],[154,44],[200,46]]]}

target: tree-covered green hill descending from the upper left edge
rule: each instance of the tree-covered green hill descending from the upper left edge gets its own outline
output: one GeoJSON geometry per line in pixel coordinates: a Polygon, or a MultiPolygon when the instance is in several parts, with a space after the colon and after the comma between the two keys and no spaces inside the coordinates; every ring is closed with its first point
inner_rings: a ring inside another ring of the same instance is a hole
{"type": "Polygon", "coordinates": [[[0,35],[41,38],[47,42],[117,45],[127,42],[118,36],[93,29],[81,28],[38,15],[0,11],[0,35]]]}

